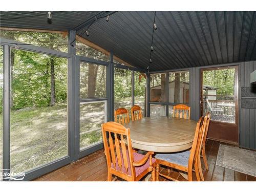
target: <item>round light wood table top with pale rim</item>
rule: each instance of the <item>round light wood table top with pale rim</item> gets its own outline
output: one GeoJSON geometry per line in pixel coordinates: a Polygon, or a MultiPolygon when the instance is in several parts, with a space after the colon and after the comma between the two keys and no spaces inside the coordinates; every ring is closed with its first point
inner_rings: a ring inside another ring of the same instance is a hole
{"type": "Polygon", "coordinates": [[[127,123],[132,146],[151,152],[180,152],[193,144],[197,122],[173,117],[145,117],[127,123]]]}

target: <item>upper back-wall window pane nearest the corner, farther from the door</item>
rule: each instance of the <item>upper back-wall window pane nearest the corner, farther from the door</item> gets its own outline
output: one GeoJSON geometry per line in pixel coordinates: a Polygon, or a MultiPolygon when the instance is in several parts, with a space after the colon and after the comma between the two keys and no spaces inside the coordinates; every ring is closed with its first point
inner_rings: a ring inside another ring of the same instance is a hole
{"type": "Polygon", "coordinates": [[[166,73],[150,75],[150,101],[166,102],[166,73]]]}

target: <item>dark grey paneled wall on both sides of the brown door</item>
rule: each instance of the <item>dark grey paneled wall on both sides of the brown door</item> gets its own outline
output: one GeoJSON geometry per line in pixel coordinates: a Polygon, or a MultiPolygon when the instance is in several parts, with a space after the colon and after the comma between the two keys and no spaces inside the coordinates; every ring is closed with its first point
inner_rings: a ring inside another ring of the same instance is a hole
{"type": "MultiPolygon", "coordinates": [[[[256,70],[256,61],[237,62],[220,66],[238,65],[239,66],[239,145],[244,148],[256,150],[256,109],[245,108],[241,105],[242,99],[248,99],[250,102],[256,102],[253,97],[241,95],[241,88],[252,87],[250,84],[250,73],[256,70]]],[[[209,66],[215,67],[215,66],[209,66]]],[[[204,67],[205,68],[205,67],[204,67]]],[[[200,69],[201,67],[190,68],[190,106],[191,119],[200,118],[200,69]]],[[[251,88],[254,92],[256,88],[251,88]]]]}

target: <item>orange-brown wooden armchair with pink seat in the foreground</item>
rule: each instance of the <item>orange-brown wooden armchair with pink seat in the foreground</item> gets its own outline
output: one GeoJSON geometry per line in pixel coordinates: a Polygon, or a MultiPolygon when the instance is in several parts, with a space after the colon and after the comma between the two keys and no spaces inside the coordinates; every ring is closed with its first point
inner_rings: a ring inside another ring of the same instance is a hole
{"type": "Polygon", "coordinates": [[[155,181],[154,152],[141,155],[133,151],[130,129],[116,122],[101,124],[108,181],[112,174],[126,181],[139,181],[147,173],[152,172],[155,181]],[[125,145],[127,143],[127,145],[125,145]]]}

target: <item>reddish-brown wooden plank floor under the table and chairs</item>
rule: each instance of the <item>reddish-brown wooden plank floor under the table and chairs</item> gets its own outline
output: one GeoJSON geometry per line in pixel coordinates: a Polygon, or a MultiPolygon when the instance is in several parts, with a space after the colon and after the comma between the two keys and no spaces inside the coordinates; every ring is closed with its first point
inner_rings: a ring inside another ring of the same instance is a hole
{"type": "MultiPolygon", "coordinates": [[[[205,181],[256,181],[256,177],[215,165],[220,144],[225,143],[213,140],[206,141],[206,155],[209,170],[206,170],[203,166],[205,181]]],[[[167,174],[167,169],[164,167],[161,167],[160,171],[161,173],[167,174]]],[[[35,181],[106,181],[106,173],[104,152],[100,150],[72,164],[63,166],[47,175],[39,177],[35,181]]],[[[176,170],[171,170],[169,175],[177,180],[185,181],[176,170]]],[[[194,180],[196,180],[195,178],[194,176],[194,180]]],[[[160,181],[166,181],[161,177],[159,179],[160,181]]]]}

